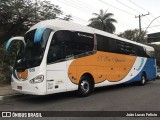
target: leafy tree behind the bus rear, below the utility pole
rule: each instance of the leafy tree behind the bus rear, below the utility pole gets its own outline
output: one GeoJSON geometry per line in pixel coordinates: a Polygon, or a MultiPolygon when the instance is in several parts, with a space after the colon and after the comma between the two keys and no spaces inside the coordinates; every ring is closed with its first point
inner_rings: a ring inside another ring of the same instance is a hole
{"type": "Polygon", "coordinates": [[[146,43],[147,42],[147,39],[145,37],[146,35],[147,35],[147,32],[142,30],[140,34],[138,29],[134,29],[134,30],[126,30],[123,33],[120,33],[118,36],[132,40],[132,41],[146,43]]]}

